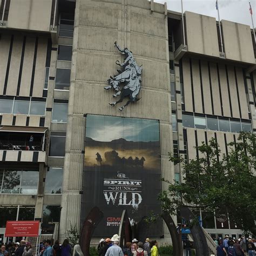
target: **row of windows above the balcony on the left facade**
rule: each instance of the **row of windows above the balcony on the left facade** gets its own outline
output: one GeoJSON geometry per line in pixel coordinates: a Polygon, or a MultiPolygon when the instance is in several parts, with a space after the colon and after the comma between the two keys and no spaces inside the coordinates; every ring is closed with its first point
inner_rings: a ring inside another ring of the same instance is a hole
{"type": "Polygon", "coordinates": [[[0,99],[0,112],[8,114],[38,114],[45,116],[45,102],[19,99],[0,99]]]}

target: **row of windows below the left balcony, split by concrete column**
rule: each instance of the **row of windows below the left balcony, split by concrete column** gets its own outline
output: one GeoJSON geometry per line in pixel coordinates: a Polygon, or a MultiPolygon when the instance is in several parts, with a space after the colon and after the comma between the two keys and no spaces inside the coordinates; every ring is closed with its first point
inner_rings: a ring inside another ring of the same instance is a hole
{"type": "MultiPolygon", "coordinates": [[[[45,194],[62,193],[62,167],[49,167],[46,173],[45,194]]],[[[39,172],[28,170],[0,170],[2,194],[37,194],[39,172]]]]}

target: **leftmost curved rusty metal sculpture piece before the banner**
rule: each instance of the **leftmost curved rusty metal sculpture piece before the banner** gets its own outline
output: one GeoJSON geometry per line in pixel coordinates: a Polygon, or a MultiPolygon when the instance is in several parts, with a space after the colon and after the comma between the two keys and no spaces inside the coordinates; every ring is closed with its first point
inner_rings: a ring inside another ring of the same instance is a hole
{"type": "Polygon", "coordinates": [[[90,243],[92,234],[102,218],[103,212],[101,212],[98,207],[93,207],[84,221],[79,244],[85,256],[90,255],[90,243]]]}

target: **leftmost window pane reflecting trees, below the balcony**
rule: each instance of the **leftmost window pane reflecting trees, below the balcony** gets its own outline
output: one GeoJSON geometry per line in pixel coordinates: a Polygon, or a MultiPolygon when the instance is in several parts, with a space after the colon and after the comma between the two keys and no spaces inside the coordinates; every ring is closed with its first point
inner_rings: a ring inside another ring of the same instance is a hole
{"type": "Polygon", "coordinates": [[[18,194],[21,184],[21,171],[4,171],[2,193],[18,194]]]}

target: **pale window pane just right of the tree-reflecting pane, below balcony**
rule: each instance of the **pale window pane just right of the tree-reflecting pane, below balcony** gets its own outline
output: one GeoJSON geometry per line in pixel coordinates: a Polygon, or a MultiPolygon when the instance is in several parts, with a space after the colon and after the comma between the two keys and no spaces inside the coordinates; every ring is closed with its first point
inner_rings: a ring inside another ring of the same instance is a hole
{"type": "Polygon", "coordinates": [[[22,171],[21,194],[37,194],[38,171],[22,171]]]}

